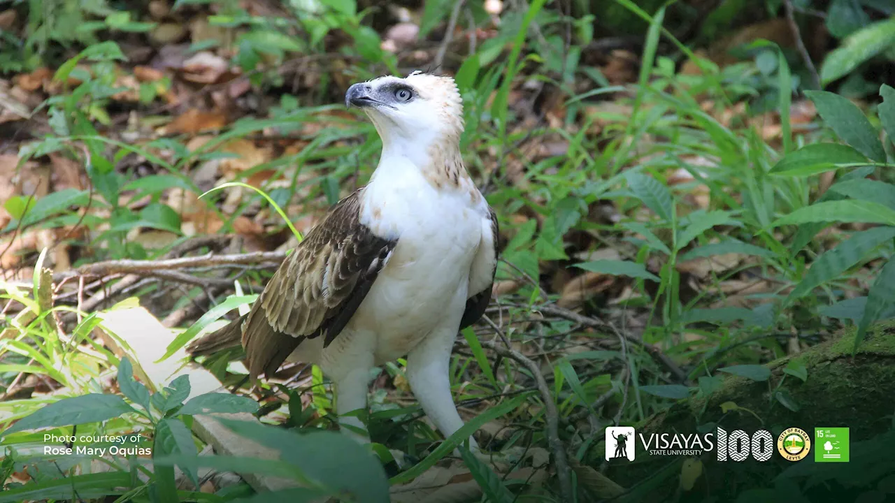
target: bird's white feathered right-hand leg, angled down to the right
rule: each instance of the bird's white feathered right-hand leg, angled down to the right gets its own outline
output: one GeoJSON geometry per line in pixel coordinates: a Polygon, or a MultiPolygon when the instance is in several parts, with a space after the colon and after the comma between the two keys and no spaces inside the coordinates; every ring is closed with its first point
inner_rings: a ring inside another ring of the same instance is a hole
{"type": "MultiPolygon", "coordinates": [[[[407,355],[407,381],[423,412],[445,438],[463,427],[450,393],[450,354],[456,337],[453,330],[441,329],[422,340],[407,355]]],[[[478,450],[475,439],[469,438],[470,448],[478,450]]]]}

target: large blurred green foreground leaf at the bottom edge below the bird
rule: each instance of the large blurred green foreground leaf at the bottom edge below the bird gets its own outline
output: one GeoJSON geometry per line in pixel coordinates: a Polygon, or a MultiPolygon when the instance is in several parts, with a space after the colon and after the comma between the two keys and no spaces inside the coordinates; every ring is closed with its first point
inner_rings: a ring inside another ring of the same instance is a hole
{"type": "MultiPolygon", "coordinates": [[[[297,466],[318,487],[336,490],[358,503],[388,503],[388,479],[377,456],[345,434],[308,431],[298,434],[259,422],[218,418],[237,435],[280,452],[280,459],[297,466]]],[[[306,484],[303,484],[306,485],[306,484]]]]}

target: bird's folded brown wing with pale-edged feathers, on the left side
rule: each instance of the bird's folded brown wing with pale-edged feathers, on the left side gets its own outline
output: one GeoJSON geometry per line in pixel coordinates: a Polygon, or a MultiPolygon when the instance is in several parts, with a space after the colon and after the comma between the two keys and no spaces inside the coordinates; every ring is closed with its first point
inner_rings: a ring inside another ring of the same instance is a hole
{"type": "Polygon", "coordinates": [[[337,203],[284,260],[243,328],[251,377],[277,371],[305,338],[324,346],[345,328],[395,249],[362,226],[360,191],[337,203]]]}

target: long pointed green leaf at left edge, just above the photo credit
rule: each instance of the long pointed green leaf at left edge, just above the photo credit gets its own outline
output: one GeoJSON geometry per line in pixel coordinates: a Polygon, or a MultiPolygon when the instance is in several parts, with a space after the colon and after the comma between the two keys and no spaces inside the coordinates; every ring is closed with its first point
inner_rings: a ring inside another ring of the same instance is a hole
{"type": "Polygon", "coordinates": [[[45,405],[21,418],[2,434],[9,435],[16,431],[107,421],[123,413],[132,412],[131,405],[127,405],[121,396],[90,393],[84,396],[63,398],[58,402],[45,405]]]}

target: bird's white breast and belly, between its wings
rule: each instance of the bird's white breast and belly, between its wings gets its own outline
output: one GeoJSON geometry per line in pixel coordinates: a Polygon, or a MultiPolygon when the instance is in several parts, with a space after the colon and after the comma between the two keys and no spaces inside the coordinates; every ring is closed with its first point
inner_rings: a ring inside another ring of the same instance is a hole
{"type": "Polygon", "coordinates": [[[401,163],[382,175],[364,190],[361,223],[398,243],[351,323],[376,332],[377,362],[407,354],[440,324],[459,325],[482,242],[481,196],[439,190],[401,163]]]}

